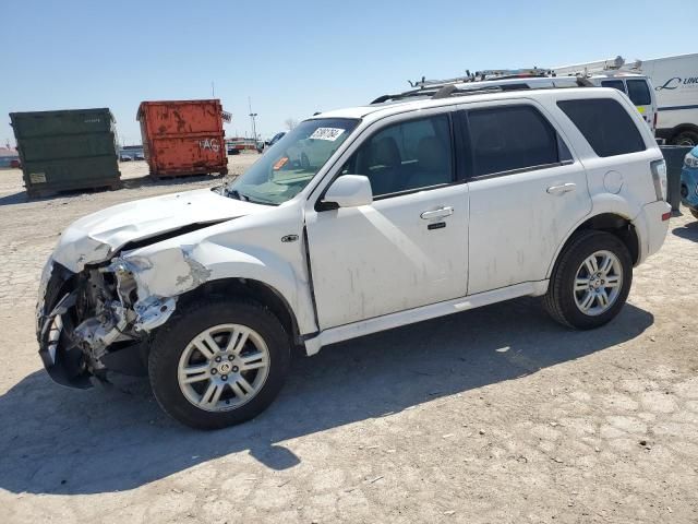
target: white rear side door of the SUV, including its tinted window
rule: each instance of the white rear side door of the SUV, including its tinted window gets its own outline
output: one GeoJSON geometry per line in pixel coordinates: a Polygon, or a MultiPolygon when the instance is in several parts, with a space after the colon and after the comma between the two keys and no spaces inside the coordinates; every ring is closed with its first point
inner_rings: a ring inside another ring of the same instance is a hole
{"type": "Polygon", "coordinates": [[[585,169],[533,100],[461,114],[469,157],[468,294],[546,277],[591,210],[585,169]]]}

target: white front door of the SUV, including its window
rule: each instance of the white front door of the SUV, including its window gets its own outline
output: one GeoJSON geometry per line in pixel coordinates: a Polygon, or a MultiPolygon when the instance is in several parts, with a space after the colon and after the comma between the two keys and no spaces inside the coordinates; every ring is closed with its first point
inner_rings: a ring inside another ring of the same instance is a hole
{"type": "Polygon", "coordinates": [[[450,129],[448,114],[383,124],[338,174],[369,177],[374,202],[306,211],[321,330],[465,296],[468,189],[450,129]]]}

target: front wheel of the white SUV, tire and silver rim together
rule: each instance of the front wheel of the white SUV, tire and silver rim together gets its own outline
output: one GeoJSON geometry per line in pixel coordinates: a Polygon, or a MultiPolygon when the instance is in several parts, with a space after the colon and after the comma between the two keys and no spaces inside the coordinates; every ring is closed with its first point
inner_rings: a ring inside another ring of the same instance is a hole
{"type": "Polygon", "coordinates": [[[269,310],[217,299],[177,311],[158,331],[148,374],[166,413],[193,428],[218,429],[262,413],[289,362],[288,336],[269,310]]]}

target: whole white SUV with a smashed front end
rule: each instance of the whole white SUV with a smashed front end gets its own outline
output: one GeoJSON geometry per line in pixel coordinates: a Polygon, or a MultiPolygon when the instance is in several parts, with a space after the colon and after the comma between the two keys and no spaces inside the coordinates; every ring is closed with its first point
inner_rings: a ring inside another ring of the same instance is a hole
{"type": "Polygon", "coordinates": [[[526,295],[567,326],[605,324],[664,241],[665,188],[652,133],[611,88],[317,115],[224,187],[70,226],[41,278],[39,354],[74,386],[147,370],[171,416],[229,426],[274,400],[293,346],[526,295]],[[301,142],[325,157],[291,162],[301,142]]]}

